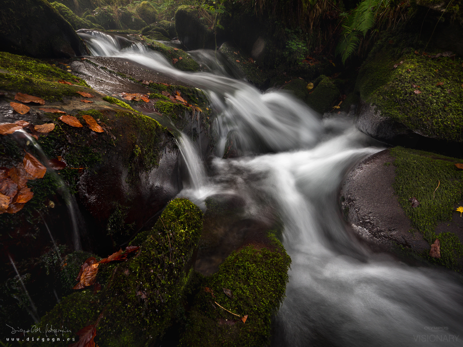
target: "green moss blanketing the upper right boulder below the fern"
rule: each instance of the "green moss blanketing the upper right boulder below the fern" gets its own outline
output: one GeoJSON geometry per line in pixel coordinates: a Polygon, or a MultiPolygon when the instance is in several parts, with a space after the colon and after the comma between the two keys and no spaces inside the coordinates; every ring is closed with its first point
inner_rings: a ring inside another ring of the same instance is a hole
{"type": "Polygon", "coordinates": [[[361,98],[377,105],[383,116],[422,135],[462,141],[462,60],[430,58],[431,53],[422,56],[413,51],[408,48],[395,56],[392,49],[385,48],[370,56],[357,81],[361,98]],[[395,64],[399,64],[397,68],[395,64]]]}

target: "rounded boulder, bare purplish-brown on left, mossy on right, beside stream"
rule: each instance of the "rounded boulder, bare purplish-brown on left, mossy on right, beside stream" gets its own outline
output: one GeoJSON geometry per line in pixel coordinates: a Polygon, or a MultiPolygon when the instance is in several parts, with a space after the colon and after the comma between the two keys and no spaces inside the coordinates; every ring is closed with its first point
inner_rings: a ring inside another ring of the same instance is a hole
{"type": "Polygon", "coordinates": [[[376,249],[463,270],[461,160],[394,147],[357,165],[343,186],[345,219],[376,249]],[[418,205],[412,204],[413,198],[418,205]],[[440,242],[440,257],[430,256],[440,242]]]}

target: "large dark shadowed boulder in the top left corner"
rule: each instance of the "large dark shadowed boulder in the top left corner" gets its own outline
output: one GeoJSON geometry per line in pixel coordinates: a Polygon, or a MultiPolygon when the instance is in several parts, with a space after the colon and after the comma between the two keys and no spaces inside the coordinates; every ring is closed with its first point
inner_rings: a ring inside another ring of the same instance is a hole
{"type": "Polygon", "coordinates": [[[83,56],[84,43],[45,0],[5,0],[0,7],[0,46],[38,58],[83,56]]]}

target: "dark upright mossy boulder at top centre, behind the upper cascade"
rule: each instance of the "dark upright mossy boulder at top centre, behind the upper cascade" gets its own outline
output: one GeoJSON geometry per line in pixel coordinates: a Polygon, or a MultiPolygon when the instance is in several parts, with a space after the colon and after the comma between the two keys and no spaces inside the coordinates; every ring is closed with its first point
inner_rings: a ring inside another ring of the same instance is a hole
{"type": "Polygon", "coordinates": [[[175,12],[175,31],[188,50],[215,49],[214,32],[201,18],[195,6],[181,5],[175,12]]]}

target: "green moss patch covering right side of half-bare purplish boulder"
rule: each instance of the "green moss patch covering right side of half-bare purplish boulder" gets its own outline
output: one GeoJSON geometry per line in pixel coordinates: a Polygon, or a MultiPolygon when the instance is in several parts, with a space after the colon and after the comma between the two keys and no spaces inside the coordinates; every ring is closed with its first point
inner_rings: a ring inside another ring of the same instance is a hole
{"type": "Polygon", "coordinates": [[[463,171],[455,167],[460,160],[402,147],[394,147],[390,153],[395,157],[393,187],[400,206],[427,242],[440,241],[441,258],[429,260],[457,269],[462,244],[457,235],[436,235],[435,229],[451,219],[454,204],[463,198],[463,171]],[[408,199],[412,197],[419,201],[418,207],[411,206],[408,199]]]}

